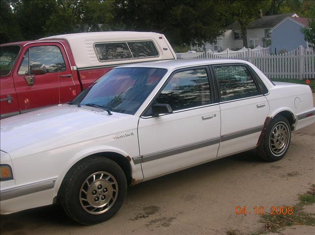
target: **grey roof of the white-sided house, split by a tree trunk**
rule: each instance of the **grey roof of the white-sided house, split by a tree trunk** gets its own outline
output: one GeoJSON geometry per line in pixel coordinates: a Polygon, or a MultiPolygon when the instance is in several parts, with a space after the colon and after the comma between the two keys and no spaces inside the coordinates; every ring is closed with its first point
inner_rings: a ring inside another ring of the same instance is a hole
{"type": "MultiPolygon", "coordinates": [[[[273,16],[263,16],[260,19],[252,22],[247,28],[248,29],[272,28],[275,25],[277,25],[279,22],[284,20],[286,17],[288,16],[291,17],[293,15],[295,14],[287,13],[287,14],[280,14],[280,15],[273,15],[273,16]]],[[[241,29],[241,26],[237,21],[235,21],[234,23],[229,25],[227,29],[232,29],[232,30],[241,29]]]]}

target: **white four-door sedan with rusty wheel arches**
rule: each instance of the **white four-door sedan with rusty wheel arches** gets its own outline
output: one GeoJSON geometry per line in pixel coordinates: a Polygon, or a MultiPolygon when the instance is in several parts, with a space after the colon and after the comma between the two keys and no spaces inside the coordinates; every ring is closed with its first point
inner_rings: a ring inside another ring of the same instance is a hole
{"type": "Polygon", "coordinates": [[[1,120],[1,214],[61,203],[99,223],[129,185],[253,148],[280,160],[291,131],[314,122],[309,86],[272,83],[247,61],[116,67],[67,104],[1,120]]]}

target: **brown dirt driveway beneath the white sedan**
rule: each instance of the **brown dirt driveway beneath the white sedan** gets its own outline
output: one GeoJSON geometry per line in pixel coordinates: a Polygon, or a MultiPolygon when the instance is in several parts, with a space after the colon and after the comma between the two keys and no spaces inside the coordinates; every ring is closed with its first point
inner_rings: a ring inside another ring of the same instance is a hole
{"type": "MultiPolygon", "coordinates": [[[[314,97],[315,98],[315,97],[314,97]]],[[[58,206],[0,217],[1,234],[213,234],[259,229],[253,206],[291,206],[315,183],[315,124],[292,133],[283,160],[267,163],[255,151],[237,154],[129,188],[109,221],[80,226],[58,206]],[[252,214],[236,215],[236,206],[252,214]]]]}

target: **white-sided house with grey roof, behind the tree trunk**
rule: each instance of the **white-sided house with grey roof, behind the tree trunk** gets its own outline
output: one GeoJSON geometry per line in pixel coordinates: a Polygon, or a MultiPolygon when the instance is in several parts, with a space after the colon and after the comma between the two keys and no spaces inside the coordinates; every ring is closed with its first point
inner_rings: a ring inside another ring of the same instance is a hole
{"type": "MultiPolygon", "coordinates": [[[[248,47],[266,47],[271,41],[271,34],[269,32],[274,26],[283,21],[286,17],[299,17],[295,13],[287,13],[272,16],[263,16],[258,20],[252,22],[247,28],[247,43],[248,47]]],[[[238,50],[243,47],[243,35],[241,33],[241,26],[238,22],[229,25],[224,34],[217,39],[215,44],[206,44],[205,49],[211,51],[223,51],[226,48],[238,50]]]]}

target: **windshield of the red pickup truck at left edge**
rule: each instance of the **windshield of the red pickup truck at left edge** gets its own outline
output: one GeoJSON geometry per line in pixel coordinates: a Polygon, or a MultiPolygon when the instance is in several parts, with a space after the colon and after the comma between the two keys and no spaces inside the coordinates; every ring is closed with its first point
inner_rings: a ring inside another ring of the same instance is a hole
{"type": "Polygon", "coordinates": [[[0,76],[7,76],[21,50],[20,46],[3,46],[0,51],[0,76]]]}

